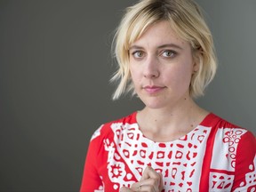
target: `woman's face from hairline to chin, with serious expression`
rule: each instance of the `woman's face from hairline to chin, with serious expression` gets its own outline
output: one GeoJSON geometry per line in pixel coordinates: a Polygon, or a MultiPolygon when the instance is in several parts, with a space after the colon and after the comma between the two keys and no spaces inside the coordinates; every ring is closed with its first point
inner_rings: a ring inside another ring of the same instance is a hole
{"type": "Polygon", "coordinates": [[[167,21],[152,25],[131,44],[129,58],[135,92],[148,108],[173,107],[189,98],[197,65],[190,44],[167,21]]]}

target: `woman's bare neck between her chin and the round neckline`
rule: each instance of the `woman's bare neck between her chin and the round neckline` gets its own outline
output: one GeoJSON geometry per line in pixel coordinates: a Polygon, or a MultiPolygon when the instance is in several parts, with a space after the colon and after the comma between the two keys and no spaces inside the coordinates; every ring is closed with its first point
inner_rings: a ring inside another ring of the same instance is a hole
{"type": "Polygon", "coordinates": [[[141,131],[149,139],[175,140],[193,130],[207,114],[194,100],[188,99],[179,107],[146,107],[139,112],[137,121],[141,131]]]}

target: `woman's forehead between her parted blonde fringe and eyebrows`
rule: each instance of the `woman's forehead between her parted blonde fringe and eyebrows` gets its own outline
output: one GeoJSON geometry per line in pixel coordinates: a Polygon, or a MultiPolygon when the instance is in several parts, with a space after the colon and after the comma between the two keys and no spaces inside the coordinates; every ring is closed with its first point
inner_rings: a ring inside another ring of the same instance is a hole
{"type": "Polygon", "coordinates": [[[152,24],[130,47],[138,46],[160,46],[161,44],[177,44],[189,46],[188,42],[178,36],[171,28],[167,20],[152,24]]]}

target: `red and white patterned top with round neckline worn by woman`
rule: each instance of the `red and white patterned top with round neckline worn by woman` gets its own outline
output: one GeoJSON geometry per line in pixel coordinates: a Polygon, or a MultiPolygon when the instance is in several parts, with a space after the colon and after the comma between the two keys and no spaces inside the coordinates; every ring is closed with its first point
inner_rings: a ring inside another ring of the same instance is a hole
{"type": "Polygon", "coordinates": [[[256,141],[252,132],[206,116],[187,135],[148,140],[137,113],[103,124],[92,135],[81,192],[115,192],[140,180],[147,165],[164,176],[164,192],[256,191],[256,141]]]}

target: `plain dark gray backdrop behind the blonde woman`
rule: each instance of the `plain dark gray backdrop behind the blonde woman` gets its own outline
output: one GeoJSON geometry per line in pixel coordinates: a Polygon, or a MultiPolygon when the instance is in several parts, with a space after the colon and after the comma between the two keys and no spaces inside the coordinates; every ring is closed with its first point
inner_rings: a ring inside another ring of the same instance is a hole
{"type": "MultiPolygon", "coordinates": [[[[142,107],[111,101],[122,1],[0,1],[0,191],[78,191],[92,132],[142,107]]],[[[220,68],[204,108],[255,133],[256,1],[197,0],[220,68]]]]}

